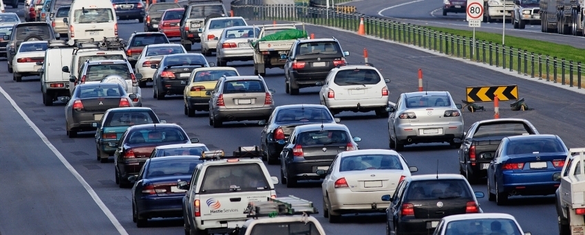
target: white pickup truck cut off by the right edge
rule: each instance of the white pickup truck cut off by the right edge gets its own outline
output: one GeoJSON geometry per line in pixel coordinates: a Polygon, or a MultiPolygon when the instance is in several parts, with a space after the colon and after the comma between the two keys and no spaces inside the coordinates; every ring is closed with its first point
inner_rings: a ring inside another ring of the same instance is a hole
{"type": "Polygon", "coordinates": [[[556,192],[560,235],[585,234],[585,148],[571,148],[563,170],[553,175],[561,181],[556,192]]]}

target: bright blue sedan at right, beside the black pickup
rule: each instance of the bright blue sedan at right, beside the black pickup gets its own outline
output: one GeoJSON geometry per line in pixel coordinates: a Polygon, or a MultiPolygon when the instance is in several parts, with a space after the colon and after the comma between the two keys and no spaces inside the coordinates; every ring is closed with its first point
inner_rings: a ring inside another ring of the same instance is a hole
{"type": "Polygon", "coordinates": [[[489,201],[504,205],[509,196],[555,194],[568,150],[557,135],[505,137],[487,168],[489,201]]]}

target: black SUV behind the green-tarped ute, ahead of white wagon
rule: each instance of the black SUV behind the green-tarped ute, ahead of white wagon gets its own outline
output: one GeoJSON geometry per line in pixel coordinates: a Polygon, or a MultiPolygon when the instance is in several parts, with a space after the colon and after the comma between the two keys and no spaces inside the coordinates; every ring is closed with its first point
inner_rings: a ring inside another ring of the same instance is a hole
{"type": "Polygon", "coordinates": [[[322,86],[329,71],[345,65],[345,56],[349,55],[335,38],[298,39],[284,56],[286,93],[297,95],[301,88],[322,86]]]}

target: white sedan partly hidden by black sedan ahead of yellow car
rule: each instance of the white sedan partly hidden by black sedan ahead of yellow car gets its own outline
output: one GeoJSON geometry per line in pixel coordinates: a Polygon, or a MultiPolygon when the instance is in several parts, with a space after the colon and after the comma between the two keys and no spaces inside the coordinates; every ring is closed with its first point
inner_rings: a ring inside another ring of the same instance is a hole
{"type": "Polygon", "coordinates": [[[152,44],[142,49],[136,61],[136,73],[142,74],[138,83],[140,87],[145,87],[147,82],[152,82],[156,69],[153,69],[151,65],[158,65],[162,56],[170,54],[187,54],[187,50],[180,44],[152,44]]]}

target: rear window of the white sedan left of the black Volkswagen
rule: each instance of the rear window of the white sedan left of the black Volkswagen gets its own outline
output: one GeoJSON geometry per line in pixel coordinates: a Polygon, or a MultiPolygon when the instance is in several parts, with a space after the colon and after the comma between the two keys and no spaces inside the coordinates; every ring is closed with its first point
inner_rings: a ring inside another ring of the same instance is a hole
{"type": "Polygon", "coordinates": [[[339,171],[403,170],[397,155],[356,155],[341,158],[339,171]]]}

